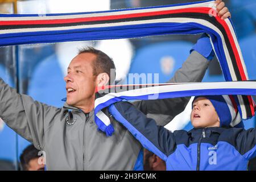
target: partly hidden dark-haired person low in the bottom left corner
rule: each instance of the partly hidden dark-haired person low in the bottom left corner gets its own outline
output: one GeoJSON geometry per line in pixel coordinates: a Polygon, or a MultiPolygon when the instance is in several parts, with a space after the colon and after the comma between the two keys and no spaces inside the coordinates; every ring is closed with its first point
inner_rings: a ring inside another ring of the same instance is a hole
{"type": "Polygon", "coordinates": [[[43,156],[39,152],[32,144],[23,150],[19,157],[22,171],[44,171],[43,156]]]}

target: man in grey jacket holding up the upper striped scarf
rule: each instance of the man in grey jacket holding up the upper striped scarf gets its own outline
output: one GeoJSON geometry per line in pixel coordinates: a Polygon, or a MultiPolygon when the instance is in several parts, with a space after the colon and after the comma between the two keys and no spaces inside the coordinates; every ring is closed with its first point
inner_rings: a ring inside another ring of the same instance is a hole
{"type": "MultiPolygon", "coordinates": [[[[230,16],[223,2],[216,3],[222,18],[230,16]]],[[[169,82],[202,80],[213,51],[208,38],[200,39],[196,45],[169,82]],[[203,42],[207,42],[208,47],[203,42]]],[[[105,53],[93,48],[82,49],[69,64],[64,78],[67,101],[63,108],[17,94],[0,79],[0,117],[16,133],[46,152],[49,170],[142,170],[142,146],[133,135],[113,121],[115,132],[112,137],[106,137],[97,131],[94,122],[94,90],[109,84],[110,69],[114,68],[105,53]]],[[[184,110],[188,101],[189,98],[175,98],[140,101],[134,105],[144,114],[158,114],[155,119],[164,126],[184,110]],[[166,115],[170,117],[163,120],[166,115]]]]}

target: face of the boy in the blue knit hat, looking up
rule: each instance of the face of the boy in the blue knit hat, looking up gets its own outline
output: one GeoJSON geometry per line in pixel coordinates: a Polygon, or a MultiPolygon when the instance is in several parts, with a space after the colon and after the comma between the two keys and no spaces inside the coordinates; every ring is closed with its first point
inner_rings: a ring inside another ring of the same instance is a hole
{"type": "Polygon", "coordinates": [[[212,102],[205,97],[198,97],[193,102],[191,111],[191,123],[193,127],[220,127],[220,119],[212,102]]]}

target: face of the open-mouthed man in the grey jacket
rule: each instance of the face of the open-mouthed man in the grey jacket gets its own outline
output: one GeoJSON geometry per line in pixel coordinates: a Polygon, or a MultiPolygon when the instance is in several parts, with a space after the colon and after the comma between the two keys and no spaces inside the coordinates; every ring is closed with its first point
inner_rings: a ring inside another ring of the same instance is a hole
{"type": "Polygon", "coordinates": [[[96,76],[92,63],[96,59],[93,53],[81,53],[73,58],[64,77],[67,90],[67,104],[82,107],[85,101],[94,97],[96,76]]]}

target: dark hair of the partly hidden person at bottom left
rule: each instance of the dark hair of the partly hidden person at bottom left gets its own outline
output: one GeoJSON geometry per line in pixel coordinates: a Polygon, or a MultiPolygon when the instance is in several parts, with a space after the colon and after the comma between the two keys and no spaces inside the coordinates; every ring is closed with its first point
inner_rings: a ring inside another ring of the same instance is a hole
{"type": "Polygon", "coordinates": [[[28,170],[30,160],[40,157],[38,155],[38,152],[39,150],[37,150],[32,144],[23,150],[22,154],[19,157],[20,167],[22,167],[23,171],[28,170]]]}

